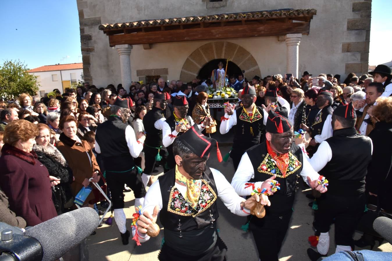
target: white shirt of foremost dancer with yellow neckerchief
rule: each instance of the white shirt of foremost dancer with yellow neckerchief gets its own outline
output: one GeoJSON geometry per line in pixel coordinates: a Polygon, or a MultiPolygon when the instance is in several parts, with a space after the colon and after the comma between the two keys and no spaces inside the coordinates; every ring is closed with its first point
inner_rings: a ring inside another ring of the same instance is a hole
{"type": "MultiPolygon", "coordinates": [[[[218,197],[223,201],[223,204],[225,204],[225,206],[231,211],[231,213],[235,215],[249,215],[247,213],[250,213],[250,210],[244,208],[244,211],[246,212],[245,213],[240,206],[241,202],[245,201],[245,199],[237,195],[236,191],[234,191],[234,188],[230,185],[230,183],[226,180],[225,176],[223,176],[221,172],[213,168],[210,169],[215,180],[218,197]]],[[[175,186],[182,195],[187,195],[186,186],[181,186],[177,183],[175,184],[175,186]]],[[[148,211],[148,213],[152,214],[155,206],[159,207],[159,211],[161,211],[161,209],[163,208],[159,180],[152,183],[151,187],[147,191],[147,194],[144,198],[142,213],[144,213],[144,211],[148,211]]],[[[135,230],[132,230],[132,234],[135,234],[135,230]]],[[[143,243],[150,239],[147,234],[142,234],[140,232],[138,232],[138,234],[140,243],[143,243]]]]}

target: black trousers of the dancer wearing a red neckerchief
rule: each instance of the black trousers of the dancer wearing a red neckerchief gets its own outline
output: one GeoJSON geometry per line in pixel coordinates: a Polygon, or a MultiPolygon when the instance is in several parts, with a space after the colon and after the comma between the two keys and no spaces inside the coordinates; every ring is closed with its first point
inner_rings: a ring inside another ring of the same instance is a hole
{"type": "Polygon", "coordinates": [[[260,260],[278,261],[278,254],[289,228],[292,211],[277,216],[266,215],[254,222],[256,216],[250,220],[252,231],[260,260]],[[253,222],[252,222],[253,221],[253,222]]]}

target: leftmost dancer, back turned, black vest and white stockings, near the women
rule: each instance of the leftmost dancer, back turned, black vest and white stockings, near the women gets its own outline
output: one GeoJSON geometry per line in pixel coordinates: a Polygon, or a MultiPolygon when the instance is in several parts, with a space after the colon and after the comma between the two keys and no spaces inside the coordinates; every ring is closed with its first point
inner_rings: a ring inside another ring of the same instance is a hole
{"type": "Polygon", "coordinates": [[[135,206],[143,204],[146,193],[142,177],[133,158],[139,157],[145,139],[143,132],[137,137],[131,126],[126,124],[131,113],[131,99],[117,97],[112,105],[111,116],[98,125],[95,134],[95,151],[102,156],[107,186],[111,192],[114,218],[121,233],[123,245],[128,245],[130,233],[125,227],[123,189],[129,186],[135,194],[135,206]]]}

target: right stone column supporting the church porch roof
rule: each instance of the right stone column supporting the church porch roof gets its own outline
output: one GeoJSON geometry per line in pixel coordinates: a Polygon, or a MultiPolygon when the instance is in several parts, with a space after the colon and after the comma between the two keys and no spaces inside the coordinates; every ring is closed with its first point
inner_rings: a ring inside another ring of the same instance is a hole
{"type": "Polygon", "coordinates": [[[287,70],[292,73],[294,78],[298,78],[298,48],[302,34],[287,34],[285,41],[287,45],[287,70]]]}

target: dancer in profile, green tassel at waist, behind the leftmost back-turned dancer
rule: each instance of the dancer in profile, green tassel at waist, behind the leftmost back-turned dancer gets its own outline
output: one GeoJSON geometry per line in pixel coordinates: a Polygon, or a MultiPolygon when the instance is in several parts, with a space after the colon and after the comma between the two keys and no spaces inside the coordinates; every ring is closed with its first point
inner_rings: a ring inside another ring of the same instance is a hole
{"type": "Polygon", "coordinates": [[[154,95],[152,109],[143,118],[143,126],[146,132],[144,142],[145,168],[142,175],[144,186],[147,186],[151,173],[154,171],[156,161],[160,161],[163,165],[164,172],[169,170],[165,166],[168,153],[162,143],[162,125],[166,120],[163,116],[166,112],[166,99],[166,93],[157,92],[154,95]]]}

